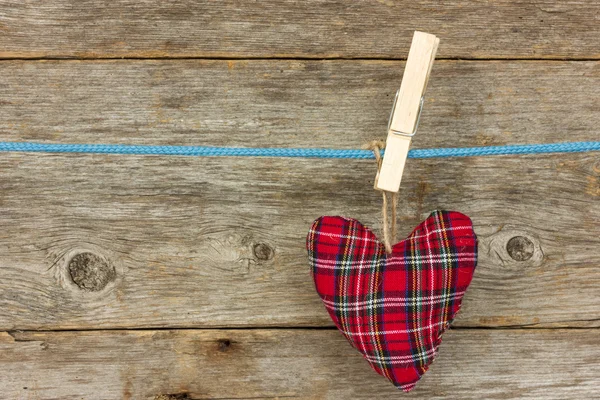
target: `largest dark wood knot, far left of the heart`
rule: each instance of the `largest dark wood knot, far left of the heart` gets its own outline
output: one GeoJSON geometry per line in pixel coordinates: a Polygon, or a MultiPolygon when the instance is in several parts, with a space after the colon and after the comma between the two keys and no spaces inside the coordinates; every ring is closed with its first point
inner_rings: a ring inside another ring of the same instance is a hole
{"type": "Polygon", "coordinates": [[[73,283],[81,290],[99,292],[117,277],[115,267],[94,253],[75,254],[68,263],[73,283]]]}

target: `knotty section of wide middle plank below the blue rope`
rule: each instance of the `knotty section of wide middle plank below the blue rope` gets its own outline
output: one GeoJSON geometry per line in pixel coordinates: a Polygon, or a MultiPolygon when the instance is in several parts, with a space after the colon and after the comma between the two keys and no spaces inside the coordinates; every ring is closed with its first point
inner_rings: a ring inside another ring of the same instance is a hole
{"type": "MultiPolygon", "coordinates": [[[[328,214],[377,228],[374,164],[6,153],[0,329],[331,326],[305,235],[328,214]]],[[[401,233],[473,218],[459,326],[598,326],[599,182],[597,153],[410,160],[401,233]]]]}

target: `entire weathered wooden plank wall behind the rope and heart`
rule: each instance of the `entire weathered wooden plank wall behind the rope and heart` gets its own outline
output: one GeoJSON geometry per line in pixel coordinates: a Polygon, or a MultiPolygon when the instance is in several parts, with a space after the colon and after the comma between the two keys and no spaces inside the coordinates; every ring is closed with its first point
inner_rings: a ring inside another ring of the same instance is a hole
{"type": "MultiPolygon", "coordinates": [[[[0,140],[354,149],[412,31],[441,38],[413,148],[598,140],[588,0],[0,1],[0,140]]],[[[374,161],[0,155],[0,398],[600,397],[598,153],[410,160],[401,233],[480,257],[410,394],[332,326],[310,223],[379,229],[374,161]]]]}

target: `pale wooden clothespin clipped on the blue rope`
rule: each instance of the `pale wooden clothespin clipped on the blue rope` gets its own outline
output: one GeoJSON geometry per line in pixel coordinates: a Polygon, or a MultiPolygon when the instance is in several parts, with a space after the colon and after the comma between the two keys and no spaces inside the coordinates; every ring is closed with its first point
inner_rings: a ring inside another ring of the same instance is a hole
{"type": "Polygon", "coordinates": [[[375,178],[375,189],[397,192],[408,157],[410,140],[417,132],[423,108],[423,95],[440,40],[415,31],[404,67],[400,90],[390,114],[385,156],[375,178]]]}

